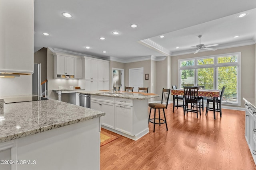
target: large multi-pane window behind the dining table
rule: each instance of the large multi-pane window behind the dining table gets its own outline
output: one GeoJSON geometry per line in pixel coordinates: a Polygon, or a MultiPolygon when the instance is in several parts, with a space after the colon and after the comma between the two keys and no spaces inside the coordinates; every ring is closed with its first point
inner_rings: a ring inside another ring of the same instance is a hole
{"type": "Polygon", "coordinates": [[[223,103],[240,106],[240,55],[230,53],[179,60],[179,87],[222,89],[223,103]]]}

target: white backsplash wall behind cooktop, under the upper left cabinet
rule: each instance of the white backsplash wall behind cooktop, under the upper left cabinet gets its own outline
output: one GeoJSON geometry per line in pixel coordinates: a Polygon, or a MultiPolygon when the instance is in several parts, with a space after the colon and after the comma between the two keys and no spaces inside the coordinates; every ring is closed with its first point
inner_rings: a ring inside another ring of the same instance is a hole
{"type": "Polygon", "coordinates": [[[14,78],[0,78],[0,96],[32,94],[32,74],[14,78]]]}

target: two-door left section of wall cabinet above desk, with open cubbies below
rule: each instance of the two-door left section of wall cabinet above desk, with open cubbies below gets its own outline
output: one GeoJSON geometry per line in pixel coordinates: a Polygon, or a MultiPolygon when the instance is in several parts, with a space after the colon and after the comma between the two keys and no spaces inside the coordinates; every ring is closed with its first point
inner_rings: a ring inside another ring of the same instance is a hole
{"type": "Polygon", "coordinates": [[[74,58],[54,55],[55,78],[74,78],[74,58]]]}

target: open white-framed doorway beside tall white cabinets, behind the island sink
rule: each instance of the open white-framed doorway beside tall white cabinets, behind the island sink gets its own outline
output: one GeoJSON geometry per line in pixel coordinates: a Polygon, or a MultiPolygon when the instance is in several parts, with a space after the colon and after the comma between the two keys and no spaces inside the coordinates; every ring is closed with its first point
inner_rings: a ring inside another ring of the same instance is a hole
{"type": "Polygon", "coordinates": [[[112,88],[115,87],[115,83],[117,83],[118,87],[122,87],[122,90],[124,90],[124,69],[122,68],[112,68],[112,88]]]}

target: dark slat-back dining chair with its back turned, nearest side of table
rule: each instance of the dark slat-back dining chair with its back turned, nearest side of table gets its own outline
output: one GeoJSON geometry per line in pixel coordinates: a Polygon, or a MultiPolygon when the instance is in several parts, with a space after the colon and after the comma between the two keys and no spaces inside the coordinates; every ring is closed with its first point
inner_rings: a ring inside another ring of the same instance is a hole
{"type": "Polygon", "coordinates": [[[185,98],[185,109],[184,115],[188,114],[188,111],[196,113],[196,117],[198,118],[198,112],[201,115],[201,99],[198,98],[198,87],[184,87],[184,98],[185,98]],[[190,103],[190,109],[188,108],[188,104],[190,103]],[[192,105],[196,104],[196,109],[192,109],[192,105]],[[198,110],[199,106],[199,110],[198,110]]]}

